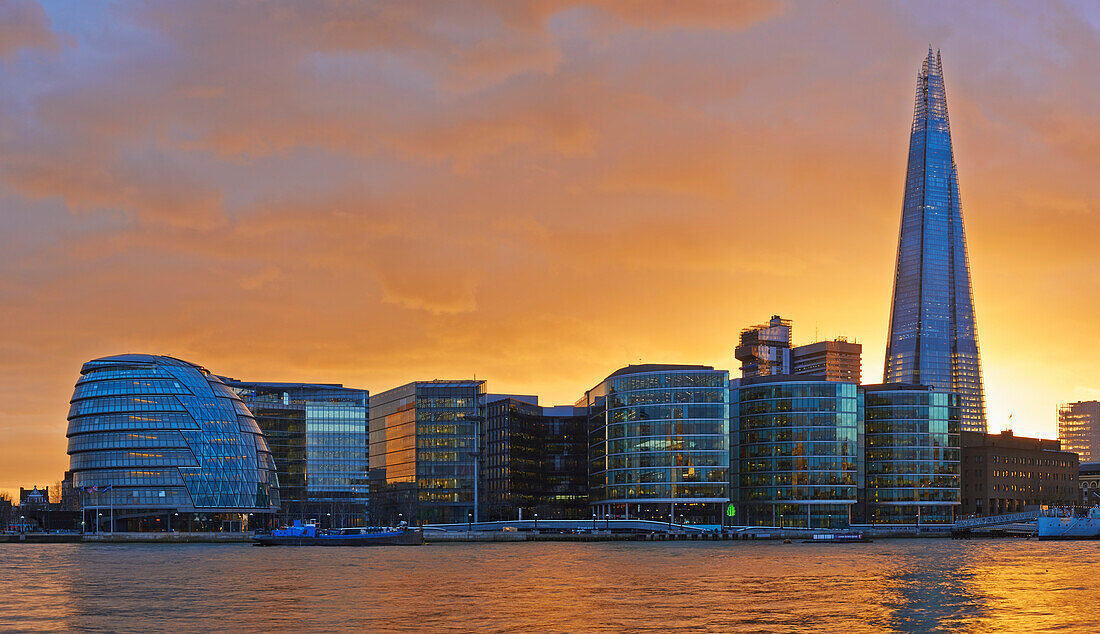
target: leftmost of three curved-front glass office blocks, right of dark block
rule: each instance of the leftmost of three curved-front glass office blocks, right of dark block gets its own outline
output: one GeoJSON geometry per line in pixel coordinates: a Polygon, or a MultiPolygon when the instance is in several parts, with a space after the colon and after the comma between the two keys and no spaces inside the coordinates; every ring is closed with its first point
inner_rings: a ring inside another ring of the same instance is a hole
{"type": "Polygon", "coordinates": [[[601,516],[721,524],[729,503],[729,373],[629,365],[578,402],[601,516]]]}

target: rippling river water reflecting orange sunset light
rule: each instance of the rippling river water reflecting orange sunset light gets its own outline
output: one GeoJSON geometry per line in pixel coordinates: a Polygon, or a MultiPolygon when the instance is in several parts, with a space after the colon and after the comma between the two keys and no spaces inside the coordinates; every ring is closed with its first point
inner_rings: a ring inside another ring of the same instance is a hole
{"type": "Polygon", "coordinates": [[[0,544],[0,630],[1100,632],[1100,542],[0,544]]]}

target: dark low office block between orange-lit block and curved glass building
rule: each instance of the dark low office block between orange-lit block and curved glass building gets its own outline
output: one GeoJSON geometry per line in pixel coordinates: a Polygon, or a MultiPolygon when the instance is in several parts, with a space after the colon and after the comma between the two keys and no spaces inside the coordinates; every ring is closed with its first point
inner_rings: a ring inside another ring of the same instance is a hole
{"type": "Polygon", "coordinates": [[[586,517],[586,424],[583,408],[490,396],[482,439],[482,518],[586,517]]]}

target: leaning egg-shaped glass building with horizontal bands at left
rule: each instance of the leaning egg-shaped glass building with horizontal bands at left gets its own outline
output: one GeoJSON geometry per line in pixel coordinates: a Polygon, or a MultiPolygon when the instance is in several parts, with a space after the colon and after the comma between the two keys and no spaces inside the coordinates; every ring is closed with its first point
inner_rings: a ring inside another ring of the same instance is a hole
{"type": "Polygon", "coordinates": [[[206,369],[120,354],[80,374],[66,436],[86,529],[245,531],[278,509],[263,433],[206,369]]]}

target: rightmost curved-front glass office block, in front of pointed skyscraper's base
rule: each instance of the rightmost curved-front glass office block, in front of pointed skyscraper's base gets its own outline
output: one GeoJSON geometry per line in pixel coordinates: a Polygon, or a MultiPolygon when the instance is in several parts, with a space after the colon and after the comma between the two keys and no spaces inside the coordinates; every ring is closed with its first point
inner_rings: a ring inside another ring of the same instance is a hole
{"type": "Polygon", "coordinates": [[[952,524],[960,504],[959,396],[864,385],[865,522],[952,524]]]}

